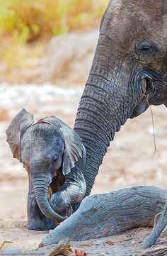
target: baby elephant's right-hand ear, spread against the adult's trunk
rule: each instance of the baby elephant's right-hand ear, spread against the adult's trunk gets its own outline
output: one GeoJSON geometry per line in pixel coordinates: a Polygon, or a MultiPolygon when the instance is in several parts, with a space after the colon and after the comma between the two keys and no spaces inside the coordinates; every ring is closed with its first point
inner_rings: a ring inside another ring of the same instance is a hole
{"type": "Polygon", "coordinates": [[[83,155],[84,145],[82,140],[74,130],[56,116],[47,117],[42,121],[59,126],[59,132],[63,135],[65,143],[62,172],[64,175],[67,175],[83,155]]]}

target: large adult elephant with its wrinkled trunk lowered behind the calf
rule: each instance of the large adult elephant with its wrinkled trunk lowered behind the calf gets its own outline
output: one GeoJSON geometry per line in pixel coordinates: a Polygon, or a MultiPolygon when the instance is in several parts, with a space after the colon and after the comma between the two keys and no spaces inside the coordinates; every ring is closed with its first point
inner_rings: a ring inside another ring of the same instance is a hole
{"type": "Polygon", "coordinates": [[[111,0],[74,125],[86,148],[86,196],[115,132],[167,104],[166,68],[167,1],[111,0]]]}

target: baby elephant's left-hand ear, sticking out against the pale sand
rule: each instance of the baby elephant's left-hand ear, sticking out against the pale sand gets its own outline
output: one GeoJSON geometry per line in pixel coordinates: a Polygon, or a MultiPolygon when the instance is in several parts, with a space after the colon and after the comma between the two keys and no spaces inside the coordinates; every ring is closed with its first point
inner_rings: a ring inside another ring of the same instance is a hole
{"type": "Polygon", "coordinates": [[[11,121],[6,130],[8,145],[13,153],[13,158],[20,160],[20,140],[21,133],[34,122],[33,115],[24,108],[11,121]]]}

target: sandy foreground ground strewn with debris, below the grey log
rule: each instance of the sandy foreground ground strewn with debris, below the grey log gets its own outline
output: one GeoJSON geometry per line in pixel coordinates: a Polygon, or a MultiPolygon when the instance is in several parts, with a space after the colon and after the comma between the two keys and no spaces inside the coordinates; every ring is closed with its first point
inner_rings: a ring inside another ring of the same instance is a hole
{"type": "MultiPolygon", "coordinates": [[[[4,226],[1,223],[1,243],[6,241],[0,252],[1,256],[7,255],[45,255],[46,252],[50,252],[55,245],[49,245],[47,247],[41,247],[38,249],[38,245],[42,238],[45,237],[46,232],[38,232],[33,230],[27,230],[25,223],[14,221],[3,221],[4,226]],[[7,228],[8,227],[8,228],[7,228]]],[[[71,250],[85,251],[86,255],[90,256],[145,256],[144,250],[141,250],[143,240],[149,235],[151,228],[137,228],[129,230],[126,233],[120,235],[113,235],[112,237],[100,238],[98,240],[87,240],[82,242],[70,242],[71,250]]],[[[159,248],[166,246],[167,238],[166,233],[161,235],[158,245],[154,245],[151,248],[159,248]]],[[[62,255],[62,254],[59,254],[62,255]]],[[[74,254],[71,254],[71,256],[74,254]]],[[[152,254],[158,255],[158,254],[152,254]]],[[[166,255],[166,254],[161,254],[166,255]]]]}

